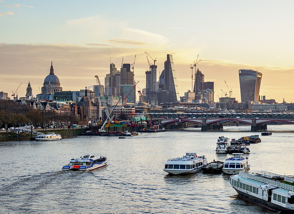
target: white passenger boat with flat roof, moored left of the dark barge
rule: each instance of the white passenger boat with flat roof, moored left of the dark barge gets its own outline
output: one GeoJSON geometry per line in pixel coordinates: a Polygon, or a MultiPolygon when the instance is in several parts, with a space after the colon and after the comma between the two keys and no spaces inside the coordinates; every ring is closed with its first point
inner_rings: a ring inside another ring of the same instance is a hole
{"type": "Polygon", "coordinates": [[[191,174],[199,172],[203,166],[207,165],[205,156],[197,156],[195,152],[187,152],[180,158],[168,159],[163,171],[173,175],[191,174]]]}

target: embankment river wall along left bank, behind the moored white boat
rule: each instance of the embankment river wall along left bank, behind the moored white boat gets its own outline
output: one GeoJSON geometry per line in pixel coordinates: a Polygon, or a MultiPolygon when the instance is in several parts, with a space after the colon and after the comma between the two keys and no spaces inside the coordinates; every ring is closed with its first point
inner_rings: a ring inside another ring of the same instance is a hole
{"type": "MultiPolygon", "coordinates": [[[[88,129],[87,129],[88,130],[88,129]]],[[[39,132],[43,132],[43,130],[37,130],[39,132]]],[[[47,133],[49,132],[54,132],[56,134],[60,134],[62,137],[64,136],[76,136],[76,135],[81,135],[81,133],[83,133],[85,131],[85,129],[81,129],[81,128],[75,128],[74,130],[71,129],[65,129],[65,130],[48,130],[47,129],[47,133]]],[[[33,137],[36,135],[33,135],[33,137]]],[[[30,139],[31,134],[30,133],[26,133],[26,132],[22,132],[22,139],[26,140],[26,139],[30,139]]],[[[0,133],[0,141],[16,141],[16,133],[14,131],[8,131],[8,133],[6,132],[1,132],[0,133]]]]}

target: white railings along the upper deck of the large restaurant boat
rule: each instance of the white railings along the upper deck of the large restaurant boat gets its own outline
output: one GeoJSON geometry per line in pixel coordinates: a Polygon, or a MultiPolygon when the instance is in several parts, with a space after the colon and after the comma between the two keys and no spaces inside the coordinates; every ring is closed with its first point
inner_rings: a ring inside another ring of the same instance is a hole
{"type": "Polygon", "coordinates": [[[284,177],[283,175],[278,175],[275,173],[270,173],[270,172],[265,172],[265,171],[245,171],[245,172],[240,172],[239,175],[241,177],[244,178],[249,178],[250,180],[255,180],[261,183],[265,183],[265,184],[271,184],[273,186],[278,186],[280,188],[286,189],[286,190],[294,190],[294,186],[293,185],[289,185],[289,184],[285,184],[285,183],[281,183],[275,180],[271,180],[269,178],[262,178],[258,175],[254,175],[254,174],[258,174],[258,175],[263,175],[263,176],[268,176],[270,178],[272,178],[273,176],[280,176],[280,177],[284,177]]]}

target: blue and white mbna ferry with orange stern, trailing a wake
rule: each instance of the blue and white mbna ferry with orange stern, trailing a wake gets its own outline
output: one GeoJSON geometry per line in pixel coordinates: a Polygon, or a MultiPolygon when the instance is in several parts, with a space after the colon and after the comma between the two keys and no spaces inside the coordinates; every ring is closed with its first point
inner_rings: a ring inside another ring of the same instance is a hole
{"type": "Polygon", "coordinates": [[[107,165],[106,157],[94,156],[94,155],[84,155],[81,158],[71,159],[69,164],[62,167],[62,170],[71,171],[91,171],[93,169],[100,168],[107,165]]]}

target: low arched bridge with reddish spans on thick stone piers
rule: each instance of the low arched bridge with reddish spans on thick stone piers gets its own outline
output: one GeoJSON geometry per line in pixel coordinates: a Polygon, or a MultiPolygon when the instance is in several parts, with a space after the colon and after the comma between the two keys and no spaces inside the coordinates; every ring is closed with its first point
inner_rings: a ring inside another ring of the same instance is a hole
{"type": "Polygon", "coordinates": [[[263,119],[263,118],[171,118],[171,119],[163,119],[163,118],[153,118],[158,125],[165,126],[169,124],[185,124],[185,123],[194,123],[201,124],[201,131],[210,131],[213,129],[223,129],[223,123],[236,121],[247,123],[251,125],[251,131],[266,131],[267,124],[270,122],[286,122],[293,123],[294,119],[263,119]]]}

